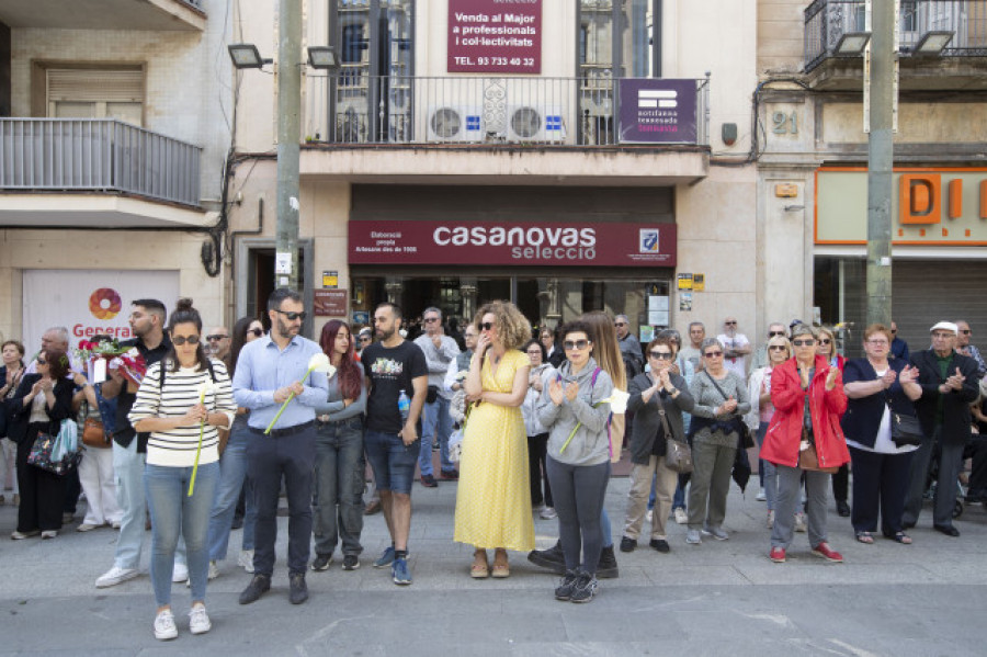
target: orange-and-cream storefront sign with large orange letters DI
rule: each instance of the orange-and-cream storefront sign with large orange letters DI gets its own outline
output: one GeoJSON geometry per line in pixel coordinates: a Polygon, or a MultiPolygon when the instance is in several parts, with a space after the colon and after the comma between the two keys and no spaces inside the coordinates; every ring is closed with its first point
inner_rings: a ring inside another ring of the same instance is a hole
{"type": "MultiPolygon", "coordinates": [[[[987,168],[896,168],[892,243],[987,245],[987,168]]],[[[867,170],[816,172],[817,245],[867,241],[867,170]]]]}

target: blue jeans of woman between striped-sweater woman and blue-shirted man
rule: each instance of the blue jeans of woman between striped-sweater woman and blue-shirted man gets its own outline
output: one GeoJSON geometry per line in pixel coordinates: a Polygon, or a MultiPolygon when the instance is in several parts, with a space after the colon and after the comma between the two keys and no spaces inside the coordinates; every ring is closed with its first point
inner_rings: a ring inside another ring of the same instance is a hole
{"type": "MultiPolygon", "coordinates": [[[[229,432],[229,441],[219,457],[219,484],[216,486],[216,499],[209,516],[209,559],[218,562],[226,558],[229,546],[229,531],[232,517],[240,498],[240,488],[247,477],[247,444],[251,433],[247,427],[246,416],[237,416],[229,432]]],[[[247,513],[243,516],[243,550],[253,550],[253,525],[257,522],[257,510],[251,496],[247,496],[247,513]]]]}

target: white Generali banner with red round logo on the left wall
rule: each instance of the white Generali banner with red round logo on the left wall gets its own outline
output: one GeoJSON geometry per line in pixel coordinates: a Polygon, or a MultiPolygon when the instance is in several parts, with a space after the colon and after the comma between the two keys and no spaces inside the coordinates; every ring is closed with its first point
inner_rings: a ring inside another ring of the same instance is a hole
{"type": "Polygon", "coordinates": [[[53,326],[69,330],[69,347],[95,335],[133,338],[131,303],[156,298],[171,311],[179,297],[179,272],[132,270],[26,270],[23,341],[27,353],[53,326]]]}

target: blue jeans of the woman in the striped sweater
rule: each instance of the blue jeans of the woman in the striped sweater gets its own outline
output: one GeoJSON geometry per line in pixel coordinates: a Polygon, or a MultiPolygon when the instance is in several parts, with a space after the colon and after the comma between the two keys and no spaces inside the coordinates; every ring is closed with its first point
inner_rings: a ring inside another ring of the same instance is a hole
{"type": "MultiPolygon", "coordinates": [[[[136,442],[136,441],[135,441],[136,442]]],[[[195,488],[189,497],[191,467],[148,465],[144,472],[151,512],[151,585],[158,607],[171,604],[171,576],[179,536],[185,540],[192,600],[205,600],[209,575],[209,509],[216,498],[219,463],[198,465],[195,488]]]]}

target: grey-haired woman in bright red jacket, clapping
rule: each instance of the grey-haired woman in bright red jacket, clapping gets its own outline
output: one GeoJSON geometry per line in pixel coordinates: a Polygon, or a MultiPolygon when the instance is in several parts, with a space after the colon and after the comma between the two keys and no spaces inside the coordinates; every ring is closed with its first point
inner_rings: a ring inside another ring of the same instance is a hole
{"type": "Polygon", "coordinates": [[[810,326],[802,324],[792,329],[792,347],[795,358],[771,374],[774,417],[761,446],[761,458],[778,466],[778,510],[769,558],[775,563],[785,560],[794,531],[799,480],[805,472],[809,545],[816,556],[839,563],[842,555],[826,542],[826,505],[829,475],[850,461],[840,429],[847,395],[839,369],[816,354],[818,341],[810,326]],[[808,458],[813,452],[817,465],[808,458]]]}

